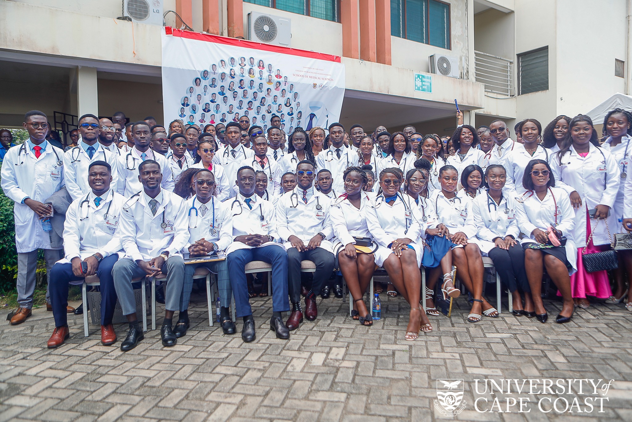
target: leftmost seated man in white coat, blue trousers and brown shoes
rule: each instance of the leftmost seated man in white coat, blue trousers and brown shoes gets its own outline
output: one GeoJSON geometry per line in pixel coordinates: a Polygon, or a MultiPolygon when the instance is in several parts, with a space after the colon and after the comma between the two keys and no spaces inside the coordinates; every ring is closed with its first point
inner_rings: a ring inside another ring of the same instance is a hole
{"type": "Polygon", "coordinates": [[[95,274],[99,276],[101,292],[101,343],[109,346],[116,342],[112,327],[116,306],[112,267],[118,261],[117,252],[123,249],[117,228],[125,198],[111,188],[111,168],[106,161],[90,163],[86,178],[91,191],[75,199],[66,211],[66,257],[52,267],[49,286],[55,318],[49,349],[59,347],[70,337],[66,317],[68,284],[83,283],[85,276],[95,274]]]}

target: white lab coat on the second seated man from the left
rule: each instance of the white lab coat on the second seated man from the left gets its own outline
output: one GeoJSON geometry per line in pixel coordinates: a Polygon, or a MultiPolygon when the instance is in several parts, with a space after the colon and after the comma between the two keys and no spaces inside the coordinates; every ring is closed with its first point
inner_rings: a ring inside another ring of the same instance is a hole
{"type": "Polygon", "coordinates": [[[123,204],[123,217],[119,221],[121,242],[126,258],[134,261],[149,261],[163,251],[168,251],[169,256],[180,254],[189,240],[185,201],[173,192],[161,189],[155,198],[159,204],[153,215],[150,199],[143,191],[123,204]],[[161,227],[163,216],[166,228],[161,227]]]}

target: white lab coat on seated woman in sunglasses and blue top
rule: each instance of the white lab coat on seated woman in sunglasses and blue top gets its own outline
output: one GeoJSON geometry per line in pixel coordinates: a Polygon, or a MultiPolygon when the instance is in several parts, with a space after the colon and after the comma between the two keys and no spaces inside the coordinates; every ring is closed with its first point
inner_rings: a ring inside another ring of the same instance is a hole
{"type": "MultiPolygon", "coordinates": [[[[411,202],[415,204],[415,201],[411,202]]],[[[389,245],[394,240],[404,238],[412,240],[410,245],[415,249],[417,264],[422,264],[423,244],[419,239],[425,239],[426,235],[422,214],[416,206],[411,207],[401,193],[397,194],[391,206],[384,201],[384,194],[380,194],[367,207],[366,212],[368,231],[379,245],[375,251],[375,263],[378,266],[382,266],[391,256],[389,245]]]]}

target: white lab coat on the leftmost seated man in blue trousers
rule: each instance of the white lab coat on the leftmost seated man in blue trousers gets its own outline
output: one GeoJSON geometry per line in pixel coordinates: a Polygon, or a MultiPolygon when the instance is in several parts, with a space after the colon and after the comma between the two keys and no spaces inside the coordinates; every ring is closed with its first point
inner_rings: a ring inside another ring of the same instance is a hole
{"type": "Polygon", "coordinates": [[[110,189],[102,195],[97,207],[96,195],[90,191],[70,204],[64,223],[64,252],[60,263],[70,263],[73,258],[82,259],[99,252],[103,258],[123,251],[119,220],[126,201],[123,195],[110,189]],[[107,215],[106,215],[107,214],[107,215]]]}

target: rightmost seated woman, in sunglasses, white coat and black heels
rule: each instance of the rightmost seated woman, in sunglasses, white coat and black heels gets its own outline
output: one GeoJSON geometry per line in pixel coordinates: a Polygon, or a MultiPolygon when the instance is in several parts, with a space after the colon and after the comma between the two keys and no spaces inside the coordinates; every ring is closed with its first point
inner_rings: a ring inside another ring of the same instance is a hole
{"type": "Polygon", "coordinates": [[[520,241],[525,249],[526,276],[531,287],[535,317],[545,323],[548,315],[542,303],[544,267],[562,295],[562,311],[557,323],[566,323],[573,316],[573,296],[569,273],[576,270],[577,249],[573,242],[575,213],[568,194],[555,187],[549,163],[534,159],[527,164],[523,187],[518,199],[516,218],[526,237],[520,241]],[[564,238],[566,243],[564,244],[564,238]]]}

